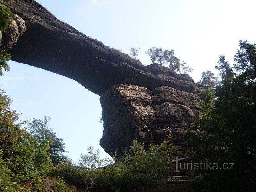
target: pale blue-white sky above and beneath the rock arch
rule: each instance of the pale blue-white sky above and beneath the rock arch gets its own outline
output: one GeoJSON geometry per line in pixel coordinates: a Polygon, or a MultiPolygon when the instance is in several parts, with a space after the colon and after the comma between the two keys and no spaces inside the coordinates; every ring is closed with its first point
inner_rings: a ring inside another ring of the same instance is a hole
{"type": "MultiPolygon", "coordinates": [[[[196,82],[203,71],[217,74],[220,54],[233,64],[239,40],[256,42],[256,1],[228,0],[37,0],[48,11],[105,45],[129,53],[139,47],[138,59],[151,64],[145,52],[155,46],[174,49],[193,70],[196,82]]],[[[100,96],[64,76],[13,61],[0,77],[0,89],[13,99],[12,108],[26,118],[50,117],[49,128],[64,139],[66,154],[77,162],[92,146],[100,147],[103,124],[100,96]]]]}

